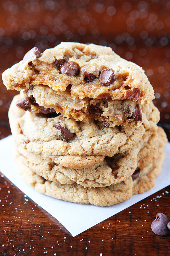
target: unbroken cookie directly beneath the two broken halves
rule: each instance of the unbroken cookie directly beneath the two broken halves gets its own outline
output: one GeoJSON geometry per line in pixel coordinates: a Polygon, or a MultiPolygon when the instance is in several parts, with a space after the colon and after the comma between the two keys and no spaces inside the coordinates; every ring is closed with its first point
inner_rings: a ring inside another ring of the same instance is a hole
{"type": "Polygon", "coordinates": [[[17,145],[29,152],[55,159],[61,155],[103,155],[110,156],[125,152],[136,145],[145,133],[151,135],[157,130],[159,111],[153,103],[142,111],[143,123],[137,128],[104,127],[101,122],[76,122],[74,119],[47,118],[21,110],[16,106],[17,95],[9,110],[11,131],[17,145]]]}

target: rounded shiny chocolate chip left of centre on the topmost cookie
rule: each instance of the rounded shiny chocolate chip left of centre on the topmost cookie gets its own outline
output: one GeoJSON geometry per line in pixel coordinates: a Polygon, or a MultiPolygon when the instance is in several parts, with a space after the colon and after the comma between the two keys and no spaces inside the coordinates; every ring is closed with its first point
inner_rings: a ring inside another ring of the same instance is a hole
{"type": "Polygon", "coordinates": [[[60,66],[60,72],[69,76],[77,76],[79,74],[79,65],[75,62],[65,62],[60,66]]]}

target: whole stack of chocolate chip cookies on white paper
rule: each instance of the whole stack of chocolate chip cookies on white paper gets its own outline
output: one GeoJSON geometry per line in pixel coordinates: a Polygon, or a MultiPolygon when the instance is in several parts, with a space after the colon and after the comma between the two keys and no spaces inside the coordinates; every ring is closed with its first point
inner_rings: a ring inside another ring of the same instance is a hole
{"type": "Polygon", "coordinates": [[[15,159],[40,193],[111,206],[154,186],[167,142],[153,87],[111,48],[31,49],[3,75],[13,98],[15,159]]]}

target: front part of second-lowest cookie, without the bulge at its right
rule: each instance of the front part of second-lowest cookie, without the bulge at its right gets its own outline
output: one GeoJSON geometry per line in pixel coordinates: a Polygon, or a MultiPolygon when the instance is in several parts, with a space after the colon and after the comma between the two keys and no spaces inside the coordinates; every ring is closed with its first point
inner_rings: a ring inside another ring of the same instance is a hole
{"type": "Polygon", "coordinates": [[[57,165],[19,147],[16,150],[16,158],[46,180],[61,184],[76,182],[83,187],[106,187],[120,183],[131,176],[137,167],[137,154],[134,149],[83,169],[57,165]]]}

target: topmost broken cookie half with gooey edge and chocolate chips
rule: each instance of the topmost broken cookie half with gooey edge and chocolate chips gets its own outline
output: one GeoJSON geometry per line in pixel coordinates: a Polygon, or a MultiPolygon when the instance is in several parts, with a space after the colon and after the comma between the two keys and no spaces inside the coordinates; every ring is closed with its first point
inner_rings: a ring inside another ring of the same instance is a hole
{"type": "Polygon", "coordinates": [[[154,99],[153,87],[140,66],[95,44],[62,42],[43,53],[34,47],[2,79],[7,89],[18,91],[40,84],[65,91],[71,85],[73,99],[129,99],[141,104],[154,99]]]}

